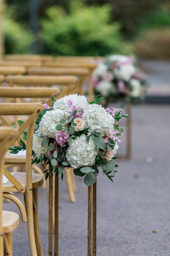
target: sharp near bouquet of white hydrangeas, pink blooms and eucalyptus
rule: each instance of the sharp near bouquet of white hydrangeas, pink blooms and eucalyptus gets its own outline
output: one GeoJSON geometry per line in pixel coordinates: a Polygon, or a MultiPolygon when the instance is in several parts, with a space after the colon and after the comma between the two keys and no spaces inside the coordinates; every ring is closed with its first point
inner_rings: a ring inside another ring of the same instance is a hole
{"type": "MultiPolygon", "coordinates": [[[[32,163],[49,165],[49,172],[56,173],[63,179],[64,167],[73,167],[74,174],[85,176],[84,182],[90,186],[95,182],[101,167],[103,173],[112,180],[115,154],[119,148],[124,128],[119,127],[122,109],[104,109],[98,102],[102,97],[97,95],[88,103],[85,96],[69,95],[58,100],[51,96],[51,108],[43,104],[44,111],[39,114],[33,136],[32,163]]],[[[18,121],[22,125],[22,121],[18,121]]],[[[24,131],[26,139],[27,131],[24,131]]],[[[21,146],[10,148],[11,153],[25,150],[21,146]]]]}

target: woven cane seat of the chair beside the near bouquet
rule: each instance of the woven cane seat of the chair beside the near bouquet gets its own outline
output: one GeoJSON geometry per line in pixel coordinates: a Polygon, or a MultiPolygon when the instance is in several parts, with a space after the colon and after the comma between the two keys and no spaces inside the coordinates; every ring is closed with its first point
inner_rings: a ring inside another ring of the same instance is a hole
{"type": "MultiPolygon", "coordinates": [[[[25,172],[11,172],[13,176],[26,187],[26,173],[25,172]]],[[[43,184],[43,175],[32,173],[32,188],[39,187],[43,184]]],[[[3,192],[17,192],[18,189],[8,180],[6,183],[2,183],[3,192]]]]}

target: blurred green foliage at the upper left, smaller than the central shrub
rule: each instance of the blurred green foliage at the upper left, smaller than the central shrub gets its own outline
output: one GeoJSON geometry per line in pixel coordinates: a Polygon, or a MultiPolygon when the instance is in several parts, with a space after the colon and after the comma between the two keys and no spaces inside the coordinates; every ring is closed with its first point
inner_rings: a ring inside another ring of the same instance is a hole
{"type": "Polygon", "coordinates": [[[6,53],[29,53],[29,47],[33,42],[30,31],[15,21],[15,13],[9,6],[5,8],[4,13],[3,30],[6,53]]]}

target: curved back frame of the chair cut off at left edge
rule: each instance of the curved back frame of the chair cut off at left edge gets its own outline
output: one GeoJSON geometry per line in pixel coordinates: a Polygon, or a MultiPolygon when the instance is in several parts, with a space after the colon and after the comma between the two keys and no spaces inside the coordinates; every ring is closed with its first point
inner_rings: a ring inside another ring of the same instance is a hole
{"type": "Polygon", "coordinates": [[[3,229],[2,229],[2,172],[4,156],[9,147],[10,141],[17,138],[18,131],[11,127],[0,127],[0,256],[4,255],[3,250],[3,229]]]}

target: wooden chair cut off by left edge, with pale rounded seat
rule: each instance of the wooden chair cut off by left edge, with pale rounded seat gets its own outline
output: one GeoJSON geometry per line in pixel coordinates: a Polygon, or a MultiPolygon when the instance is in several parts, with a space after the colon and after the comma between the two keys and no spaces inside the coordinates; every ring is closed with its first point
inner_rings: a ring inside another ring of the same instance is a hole
{"type": "Polygon", "coordinates": [[[13,138],[18,137],[18,132],[14,128],[0,127],[0,256],[12,256],[13,231],[19,224],[19,215],[2,211],[2,172],[4,156],[8,145],[13,138]]]}

